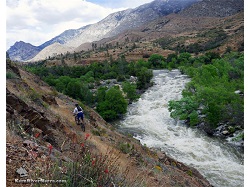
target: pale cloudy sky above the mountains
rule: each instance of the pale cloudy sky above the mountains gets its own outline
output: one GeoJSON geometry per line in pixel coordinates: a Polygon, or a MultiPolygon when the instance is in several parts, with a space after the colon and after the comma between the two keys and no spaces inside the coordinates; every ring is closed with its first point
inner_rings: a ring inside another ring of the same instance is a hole
{"type": "Polygon", "coordinates": [[[6,0],[6,50],[16,41],[39,46],[68,29],[153,0],[6,0]]]}

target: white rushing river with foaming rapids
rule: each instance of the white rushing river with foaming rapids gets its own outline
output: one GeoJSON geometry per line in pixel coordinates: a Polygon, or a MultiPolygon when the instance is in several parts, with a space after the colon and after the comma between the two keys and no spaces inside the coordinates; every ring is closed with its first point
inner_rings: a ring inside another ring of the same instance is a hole
{"type": "Polygon", "coordinates": [[[243,187],[243,153],[170,118],[168,101],[181,98],[189,79],[177,70],[157,70],[153,81],[155,85],[129,106],[119,129],[196,168],[215,187],[243,187]]]}

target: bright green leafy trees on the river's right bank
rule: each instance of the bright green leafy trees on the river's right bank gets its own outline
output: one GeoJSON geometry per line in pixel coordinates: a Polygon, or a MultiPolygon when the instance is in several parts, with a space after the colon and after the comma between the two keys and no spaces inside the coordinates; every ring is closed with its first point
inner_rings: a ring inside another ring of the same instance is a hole
{"type": "Polygon", "coordinates": [[[216,53],[206,53],[195,59],[187,57],[182,56],[181,62],[189,59],[193,64],[180,62],[179,68],[192,81],[183,90],[181,100],[169,102],[171,117],[187,120],[190,125],[203,121],[214,128],[226,122],[243,125],[244,99],[235,94],[236,90],[244,92],[243,54],[228,53],[221,58],[216,53]],[[205,118],[199,118],[198,112],[205,118]]]}

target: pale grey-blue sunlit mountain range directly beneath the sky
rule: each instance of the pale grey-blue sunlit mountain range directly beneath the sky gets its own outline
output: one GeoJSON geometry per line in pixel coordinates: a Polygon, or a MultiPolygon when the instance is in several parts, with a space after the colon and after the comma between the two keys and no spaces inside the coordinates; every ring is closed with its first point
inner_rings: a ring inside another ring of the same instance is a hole
{"type": "MultiPolygon", "coordinates": [[[[125,30],[139,27],[162,16],[179,12],[197,1],[199,0],[155,0],[135,9],[127,9],[110,14],[96,24],[84,26],[79,29],[67,30],[38,47],[33,46],[35,50],[32,51],[32,55],[29,55],[31,51],[24,50],[21,46],[16,45],[11,46],[7,52],[12,60],[27,61],[32,59],[38,51],[40,52],[56,42],[70,48],[76,48],[83,43],[115,36],[125,30]]],[[[62,51],[57,49],[53,50],[51,47],[50,50],[50,53],[46,55],[44,52],[38,54],[35,59],[45,59],[54,54],[62,53],[62,51]]],[[[70,52],[72,51],[73,49],[70,52]]]]}

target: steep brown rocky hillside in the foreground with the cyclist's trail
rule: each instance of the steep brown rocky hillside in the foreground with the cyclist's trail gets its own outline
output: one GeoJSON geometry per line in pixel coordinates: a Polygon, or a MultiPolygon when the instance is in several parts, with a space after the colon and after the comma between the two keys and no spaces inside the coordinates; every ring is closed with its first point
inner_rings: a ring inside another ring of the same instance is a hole
{"type": "Polygon", "coordinates": [[[82,105],[83,132],[72,115],[77,101],[9,60],[6,67],[7,186],[20,186],[18,181],[25,179],[60,179],[86,186],[105,181],[138,187],[211,186],[197,170],[119,134],[82,105]]]}

